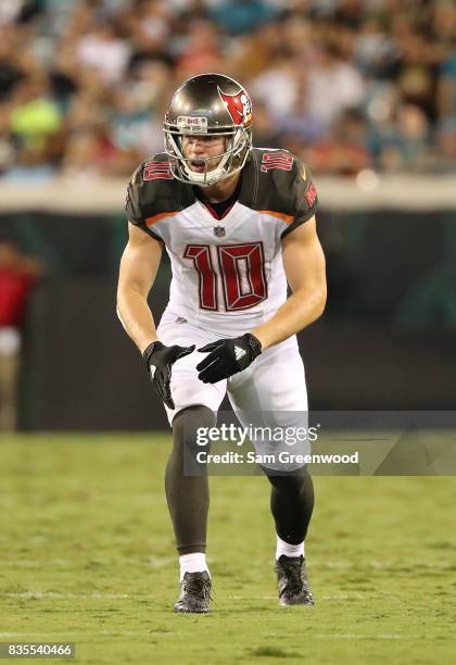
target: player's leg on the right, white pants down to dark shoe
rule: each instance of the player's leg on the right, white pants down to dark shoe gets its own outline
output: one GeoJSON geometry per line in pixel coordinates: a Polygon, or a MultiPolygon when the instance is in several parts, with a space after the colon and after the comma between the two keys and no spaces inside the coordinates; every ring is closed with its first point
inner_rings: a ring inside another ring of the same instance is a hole
{"type": "MultiPolygon", "coordinates": [[[[228,380],[228,394],[244,427],[307,430],[307,391],[296,339],[267,349],[255,363],[228,380]]],[[[253,441],[261,455],[274,452],[277,463],[262,465],[271,485],[276,524],[276,572],[280,604],[313,604],[305,569],[304,542],[314,507],[312,477],[302,462],[281,463],[279,452],[309,452],[309,442],[253,441]]]]}

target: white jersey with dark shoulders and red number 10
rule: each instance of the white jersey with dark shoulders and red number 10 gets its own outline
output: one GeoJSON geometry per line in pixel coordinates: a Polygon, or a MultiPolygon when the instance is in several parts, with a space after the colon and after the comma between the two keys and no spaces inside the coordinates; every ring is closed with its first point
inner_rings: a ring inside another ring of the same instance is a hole
{"type": "Polygon", "coordinates": [[[127,196],[129,222],[163,241],[169,255],[166,312],[229,336],[270,318],[286,301],[281,239],[316,205],[309,172],[296,158],[256,148],[221,216],[173,177],[165,153],[138,167],[127,196]]]}

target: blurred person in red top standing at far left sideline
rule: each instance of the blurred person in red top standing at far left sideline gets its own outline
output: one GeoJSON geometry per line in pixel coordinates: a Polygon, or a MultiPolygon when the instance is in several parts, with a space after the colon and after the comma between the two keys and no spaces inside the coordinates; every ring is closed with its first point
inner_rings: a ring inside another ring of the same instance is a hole
{"type": "Polygon", "coordinates": [[[33,286],[43,275],[42,264],[24,255],[13,239],[0,236],[0,430],[17,423],[17,374],[21,330],[33,286]]]}

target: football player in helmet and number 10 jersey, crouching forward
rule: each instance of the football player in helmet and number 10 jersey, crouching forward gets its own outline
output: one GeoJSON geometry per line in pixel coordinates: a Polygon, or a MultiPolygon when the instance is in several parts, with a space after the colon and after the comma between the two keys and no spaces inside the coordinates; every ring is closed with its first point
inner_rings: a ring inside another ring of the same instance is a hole
{"type": "MultiPolygon", "coordinates": [[[[187,80],[165,116],[165,151],[143,162],[128,187],[117,312],[173,429],[165,487],[180,562],[176,612],[207,612],[211,600],[207,473],[186,473],[185,453],[194,457],[197,431],[214,426],[226,392],[242,425],[255,425],[252,413],[269,426],[306,423],[295,334],[326,303],[309,171],[286,150],[253,148],[252,122],[251,99],[232,78],[187,80]],[[155,328],[148,293],[163,247],[173,279],[155,328]]],[[[253,443],[257,451],[274,446],[253,443]]],[[[312,478],[302,464],[263,468],[279,603],[312,605],[304,557],[312,478]]]]}

